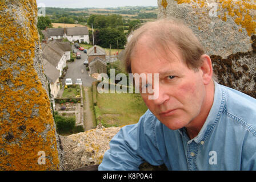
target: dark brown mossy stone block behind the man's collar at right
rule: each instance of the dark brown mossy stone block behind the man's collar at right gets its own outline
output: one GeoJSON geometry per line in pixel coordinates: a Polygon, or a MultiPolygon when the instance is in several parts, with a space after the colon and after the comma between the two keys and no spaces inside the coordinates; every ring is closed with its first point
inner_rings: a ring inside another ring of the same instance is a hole
{"type": "Polygon", "coordinates": [[[236,53],[227,59],[211,56],[219,83],[256,98],[256,53],[236,53]]]}

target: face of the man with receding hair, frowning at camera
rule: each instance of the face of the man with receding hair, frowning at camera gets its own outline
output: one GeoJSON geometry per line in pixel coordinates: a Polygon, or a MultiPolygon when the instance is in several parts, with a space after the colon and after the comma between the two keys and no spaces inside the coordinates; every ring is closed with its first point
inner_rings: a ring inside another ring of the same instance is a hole
{"type": "Polygon", "coordinates": [[[174,46],[166,53],[159,48],[147,47],[147,40],[141,39],[131,56],[131,71],[159,73],[158,98],[149,100],[148,93],[141,93],[147,107],[169,129],[195,126],[193,121],[198,119],[205,105],[202,70],[195,72],[189,69],[174,46]]]}

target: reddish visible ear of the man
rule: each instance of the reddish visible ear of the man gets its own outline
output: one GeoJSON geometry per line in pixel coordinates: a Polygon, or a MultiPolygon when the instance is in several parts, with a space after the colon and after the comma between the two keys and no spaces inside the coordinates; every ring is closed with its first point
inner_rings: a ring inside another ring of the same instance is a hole
{"type": "Polygon", "coordinates": [[[210,83],[211,78],[213,77],[213,66],[211,65],[211,58],[208,55],[202,55],[200,59],[202,60],[200,69],[203,73],[203,83],[207,85],[210,83]]]}

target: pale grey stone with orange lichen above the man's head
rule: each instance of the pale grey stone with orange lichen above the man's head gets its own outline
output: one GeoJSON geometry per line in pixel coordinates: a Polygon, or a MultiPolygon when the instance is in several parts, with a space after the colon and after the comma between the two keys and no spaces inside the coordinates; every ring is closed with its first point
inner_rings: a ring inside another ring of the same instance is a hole
{"type": "Polygon", "coordinates": [[[252,50],[250,37],[256,27],[255,1],[158,0],[158,7],[158,18],[182,19],[208,55],[226,59],[231,54],[252,50]],[[215,10],[211,3],[215,3],[215,10]]]}

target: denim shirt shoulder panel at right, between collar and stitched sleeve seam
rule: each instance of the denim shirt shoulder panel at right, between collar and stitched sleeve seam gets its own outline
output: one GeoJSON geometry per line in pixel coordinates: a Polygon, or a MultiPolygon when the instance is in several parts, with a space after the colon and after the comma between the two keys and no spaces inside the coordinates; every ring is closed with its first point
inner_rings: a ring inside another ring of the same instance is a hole
{"type": "Polygon", "coordinates": [[[225,92],[223,111],[227,117],[233,119],[256,136],[256,99],[238,90],[221,85],[225,92]]]}

